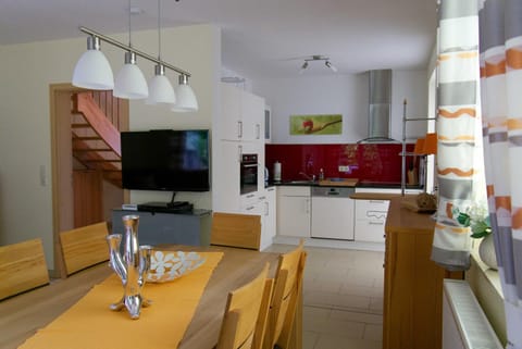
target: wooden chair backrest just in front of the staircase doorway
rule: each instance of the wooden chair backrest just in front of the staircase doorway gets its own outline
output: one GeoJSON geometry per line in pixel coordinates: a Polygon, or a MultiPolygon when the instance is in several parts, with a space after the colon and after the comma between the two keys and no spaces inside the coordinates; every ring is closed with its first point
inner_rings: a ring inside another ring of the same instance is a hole
{"type": "Polygon", "coordinates": [[[63,262],[67,275],[109,260],[105,222],[60,233],[63,262]]]}

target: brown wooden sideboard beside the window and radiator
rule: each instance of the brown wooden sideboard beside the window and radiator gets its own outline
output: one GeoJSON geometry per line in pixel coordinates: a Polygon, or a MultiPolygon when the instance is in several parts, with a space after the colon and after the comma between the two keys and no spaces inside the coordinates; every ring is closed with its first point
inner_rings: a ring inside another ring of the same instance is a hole
{"type": "Polygon", "coordinates": [[[384,349],[440,349],[443,281],[462,278],[431,259],[435,221],[390,200],[384,267],[384,349]]]}

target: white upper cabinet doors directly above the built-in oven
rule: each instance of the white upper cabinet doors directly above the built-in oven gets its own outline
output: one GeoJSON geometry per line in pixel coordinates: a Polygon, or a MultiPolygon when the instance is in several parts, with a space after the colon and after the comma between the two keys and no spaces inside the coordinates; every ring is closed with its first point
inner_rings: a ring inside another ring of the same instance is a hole
{"type": "Polygon", "coordinates": [[[220,139],[264,142],[264,99],[224,83],[221,94],[220,139]]]}

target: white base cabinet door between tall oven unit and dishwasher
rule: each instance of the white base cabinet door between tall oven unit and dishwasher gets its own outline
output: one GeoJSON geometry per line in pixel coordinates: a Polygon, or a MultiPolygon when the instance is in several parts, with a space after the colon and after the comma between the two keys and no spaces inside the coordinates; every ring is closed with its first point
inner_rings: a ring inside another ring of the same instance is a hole
{"type": "Polygon", "coordinates": [[[310,237],[310,187],[277,188],[277,235],[310,237]]]}

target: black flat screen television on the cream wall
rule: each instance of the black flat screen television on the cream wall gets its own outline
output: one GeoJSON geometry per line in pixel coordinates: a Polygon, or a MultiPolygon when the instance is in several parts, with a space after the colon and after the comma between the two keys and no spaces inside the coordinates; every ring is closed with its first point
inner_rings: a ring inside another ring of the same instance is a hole
{"type": "Polygon", "coordinates": [[[125,189],[209,191],[208,129],[122,132],[125,189]]]}

